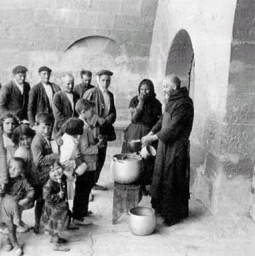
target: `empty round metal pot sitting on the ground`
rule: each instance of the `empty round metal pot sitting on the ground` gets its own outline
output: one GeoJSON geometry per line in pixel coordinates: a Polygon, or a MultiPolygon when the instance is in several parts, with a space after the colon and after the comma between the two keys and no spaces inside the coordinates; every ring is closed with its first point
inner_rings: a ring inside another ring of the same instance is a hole
{"type": "Polygon", "coordinates": [[[156,216],[153,208],[138,206],[131,208],[129,228],[134,235],[150,235],[156,227],[156,216]]]}

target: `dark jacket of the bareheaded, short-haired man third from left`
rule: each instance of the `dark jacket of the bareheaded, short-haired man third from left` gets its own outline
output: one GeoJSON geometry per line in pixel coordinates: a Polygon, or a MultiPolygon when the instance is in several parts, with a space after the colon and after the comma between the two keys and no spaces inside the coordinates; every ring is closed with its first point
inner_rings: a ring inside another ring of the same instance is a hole
{"type": "MultiPolygon", "coordinates": [[[[79,95],[73,92],[74,108],[75,104],[79,100],[79,95]]],[[[53,97],[53,114],[55,123],[53,127],[52,138],[57,138],[60,132],[60,128],[63,123],[70,117],[78,117],[78,113],[75,109],[72,109],[71,103],[67,97],[65,91],[58,91],[53,97]]]]}

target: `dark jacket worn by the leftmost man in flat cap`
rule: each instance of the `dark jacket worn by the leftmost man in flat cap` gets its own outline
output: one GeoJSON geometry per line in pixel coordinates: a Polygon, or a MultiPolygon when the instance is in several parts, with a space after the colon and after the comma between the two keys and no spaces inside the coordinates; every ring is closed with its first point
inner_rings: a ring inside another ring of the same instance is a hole
{"type": "Polygon", "coordinates": [[[30,85],[24,82],[23,94],[18,89],[16,82],[11,80],[0,91],[0,113],[11,111],[21,120],[28,120],[28,93],[30,85]]]}

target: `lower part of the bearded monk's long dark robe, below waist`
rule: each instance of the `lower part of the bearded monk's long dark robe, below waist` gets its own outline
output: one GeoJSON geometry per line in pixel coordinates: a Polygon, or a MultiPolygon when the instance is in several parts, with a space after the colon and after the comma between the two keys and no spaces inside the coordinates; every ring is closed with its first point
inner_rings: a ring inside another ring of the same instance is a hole
{"type": "Polygon", "coordinates": [[[166,147],[159,142],[150,194],[152,207],[164,221],[188,216],[189,150],[188,141],[166,147]]]}

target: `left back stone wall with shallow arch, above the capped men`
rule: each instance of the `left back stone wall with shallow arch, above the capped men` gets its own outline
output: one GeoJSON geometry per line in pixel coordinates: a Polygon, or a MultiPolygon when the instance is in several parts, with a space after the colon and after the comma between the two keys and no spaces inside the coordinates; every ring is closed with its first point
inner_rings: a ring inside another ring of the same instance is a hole
{"type": "Polygon", "coordinates": [[[41,65],[58,84],[66,71],[79,83],[81,68],[109,68],[118,121],[126,123],[129,101],[147,77],[156,11],[157,0],[1,0],[0,82],[15,65],[28,67],[32,86],[41,65]]]}

